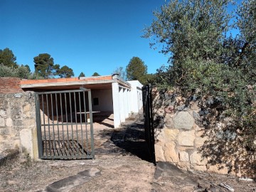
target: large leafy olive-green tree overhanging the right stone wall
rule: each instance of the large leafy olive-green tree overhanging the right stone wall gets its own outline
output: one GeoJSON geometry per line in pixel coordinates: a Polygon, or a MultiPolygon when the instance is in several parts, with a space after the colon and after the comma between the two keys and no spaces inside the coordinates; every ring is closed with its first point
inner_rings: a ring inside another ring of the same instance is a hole
{"type": "MultiPolygon", "coordinates": [[[[235,38],[225,36],[229,2],[170,1],[154,12],[156,20],[145,29],[144,37],[154,39],[151,46],[160,43],[161,53],[170,56],[170,65],[157,70],[154,82],[160,87],[177,87],[187,103],[196,98],[208,136],[229,118],[231,123],[223,131],[235,135],[237,146],[249,147],[256,139],[256,1],[243,1],[238,9],[240,35],[235,38]]],[[[205,148],[206,156],[215,156],[218,162],[225,159],[225,163],[231,156],[236,159],[233,141],[211,142],[205,148]],[[216,151],[209,150],[214,144],[216,151]]],[[[248,166],[256,166],[250,152],[246,153],[248,166]]],[[[242,164],[239,159],[236,163],[242,164]]]]}

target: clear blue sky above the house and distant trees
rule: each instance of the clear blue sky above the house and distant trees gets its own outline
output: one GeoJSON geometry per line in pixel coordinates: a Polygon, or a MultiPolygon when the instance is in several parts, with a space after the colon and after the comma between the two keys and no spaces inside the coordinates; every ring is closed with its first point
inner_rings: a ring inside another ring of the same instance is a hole
{"type": "Polygon", "coordinates": [[[168,57],[141,38],[152,11],[165,0],[0,0],[0,49],[10,48],[18,64],[34,70],[33,58],[50,54],[55,64],[68,65],[75,76],[110,75],[133,56],[148,73],[168,57]]]}

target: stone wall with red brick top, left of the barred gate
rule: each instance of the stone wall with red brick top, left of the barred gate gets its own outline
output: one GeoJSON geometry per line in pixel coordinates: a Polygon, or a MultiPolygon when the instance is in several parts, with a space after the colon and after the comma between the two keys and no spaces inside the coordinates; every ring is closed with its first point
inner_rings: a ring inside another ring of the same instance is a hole
{"type": "Polygon", "coordinates": [[[18,78],[0,78],[0,152],[19,149],[37,156],[33,92],[23,92],[18,78]]]}

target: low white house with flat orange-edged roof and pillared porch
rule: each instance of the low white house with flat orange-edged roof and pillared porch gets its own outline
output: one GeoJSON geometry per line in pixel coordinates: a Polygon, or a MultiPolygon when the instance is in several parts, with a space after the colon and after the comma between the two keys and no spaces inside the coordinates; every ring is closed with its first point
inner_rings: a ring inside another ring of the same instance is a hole
{"type": "Polygon", "coordinates": [[[21,80],[20,87],[35,92],[78,90],[81,87],[90,89],[92,111],[113,113],[114,127],[119,127],[129,114],[137,113],[142,108],[142,84],[138,80],[122,80],[117,74],[85,78],[21,80]]]}

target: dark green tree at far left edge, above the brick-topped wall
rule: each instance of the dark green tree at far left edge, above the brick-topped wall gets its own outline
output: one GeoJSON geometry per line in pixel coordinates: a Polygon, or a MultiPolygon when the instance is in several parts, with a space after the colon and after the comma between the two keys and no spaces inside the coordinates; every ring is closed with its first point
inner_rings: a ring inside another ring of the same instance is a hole
{"type": "Polygon", "coordinates": [[[7,67],[17,68],[16,57],[14,53],[9,49],[5,48],[4,50],[0,49],[0,64],[3,64],[7,67]]]}

